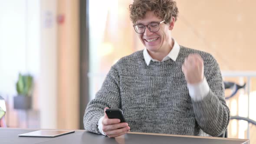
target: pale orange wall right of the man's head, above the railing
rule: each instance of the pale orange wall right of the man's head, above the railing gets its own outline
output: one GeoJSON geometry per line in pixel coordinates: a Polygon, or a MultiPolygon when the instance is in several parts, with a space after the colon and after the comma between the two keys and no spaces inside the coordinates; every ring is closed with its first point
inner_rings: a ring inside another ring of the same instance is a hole
{"type": "Polygon", "coordinates": [[[173,36],[180,45],[210,52],[221,70],[256,70],[254,0],[177,0],[173,36]]]}

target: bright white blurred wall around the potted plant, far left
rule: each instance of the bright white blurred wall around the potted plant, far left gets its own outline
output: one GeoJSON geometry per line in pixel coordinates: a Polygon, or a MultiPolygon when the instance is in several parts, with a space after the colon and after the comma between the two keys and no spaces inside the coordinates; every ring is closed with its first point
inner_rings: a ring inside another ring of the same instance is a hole
{"type": "MultiPolygon", "coordinates": [[[[19,72],[39,77],[39,0],[0,0],[0,95],[8,101],[8,125],[18,127],[13,110],[19,72]],[[8,111],[9,110],[9,111],[8,111]]],[[[33,108],[37,105],[37,84],[33,108]]]]}

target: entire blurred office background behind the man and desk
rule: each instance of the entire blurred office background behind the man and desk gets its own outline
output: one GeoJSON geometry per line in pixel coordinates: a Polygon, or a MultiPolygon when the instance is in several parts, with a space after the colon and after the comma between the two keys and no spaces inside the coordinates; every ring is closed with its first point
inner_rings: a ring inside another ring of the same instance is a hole
{"type": "MultiPolygon", "coordinates": [[[[129,20],[132,1],[0,0],[0,96],[7,127],[83,129],[86,105],[110,67],[144,49],[129,20]]],[[[211,53],[225,82],[244,85],[226,89],[226,102],[232,116],[256,121],[256,1],[176,1],[174,39],[211,53]]],[[[228,137],[253,143],[255,134],[255,125],[230,120],[228,137]]]]}

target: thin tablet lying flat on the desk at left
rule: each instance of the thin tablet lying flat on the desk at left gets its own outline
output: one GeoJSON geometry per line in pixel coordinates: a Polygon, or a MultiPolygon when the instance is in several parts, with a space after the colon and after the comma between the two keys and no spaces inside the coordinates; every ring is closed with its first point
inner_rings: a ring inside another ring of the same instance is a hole
{"type": "Polygon", "coordinates": [[[65,131],[65,130],[39,130],[32,131],[25,134],[19,134],[19,137],[57,137],[64,134],[70,134],[75,131],[65,131]]]}

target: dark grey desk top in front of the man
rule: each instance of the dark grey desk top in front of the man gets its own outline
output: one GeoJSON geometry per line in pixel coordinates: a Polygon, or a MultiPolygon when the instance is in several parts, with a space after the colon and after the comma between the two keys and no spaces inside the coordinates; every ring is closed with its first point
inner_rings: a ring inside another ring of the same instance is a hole
{"type": "Polygon", "coordinates": [[[0,128],[0,144],[249,144],[247,139],[195,137],[171,134],[149,134],[129,132],[121,137],[109,138],[88,131],[59,137],[18,137],[31,129],[0,128]]]}

